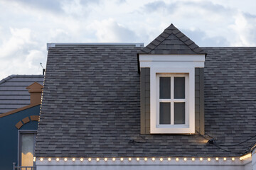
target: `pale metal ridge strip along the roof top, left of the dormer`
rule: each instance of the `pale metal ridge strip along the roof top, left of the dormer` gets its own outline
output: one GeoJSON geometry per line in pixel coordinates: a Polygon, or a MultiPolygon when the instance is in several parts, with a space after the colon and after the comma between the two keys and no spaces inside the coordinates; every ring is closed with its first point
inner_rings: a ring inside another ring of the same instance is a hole
{"type": "Polygon", "coordinates": [[[47,43],[47,50],[49,47],[56,47],[56,45],[60,45],[61,47],[70,45],[135,45],[135,47],[144,47],[144,42],[50,42],[47,43]]]}

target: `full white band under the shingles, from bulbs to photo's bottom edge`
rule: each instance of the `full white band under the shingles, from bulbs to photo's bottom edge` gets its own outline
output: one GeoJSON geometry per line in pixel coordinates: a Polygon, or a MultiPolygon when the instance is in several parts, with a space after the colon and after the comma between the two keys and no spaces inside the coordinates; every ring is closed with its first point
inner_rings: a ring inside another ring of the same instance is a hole
{"type": "Polygon", "coordinates": [[[252,159],[240,160],[239,157],[130,157],[130,158],[36,158],[37,170],[251,170],[252,159]],[[48,161],[50,160],[50,161],[48,161]],[[65,161],[66,160],[66,161],[65,161]],[[89,161],[90,160],[90,161],[89,161]]]}

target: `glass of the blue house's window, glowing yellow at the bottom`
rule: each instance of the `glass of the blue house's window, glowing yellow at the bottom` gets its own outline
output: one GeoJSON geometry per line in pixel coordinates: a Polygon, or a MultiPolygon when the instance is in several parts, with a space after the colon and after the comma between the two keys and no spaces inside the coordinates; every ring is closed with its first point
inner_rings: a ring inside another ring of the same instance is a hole
{"type": "Polygon", "coordinates": [[[21,135],[21,166],[33,166],[34,134],[21,135]]]}

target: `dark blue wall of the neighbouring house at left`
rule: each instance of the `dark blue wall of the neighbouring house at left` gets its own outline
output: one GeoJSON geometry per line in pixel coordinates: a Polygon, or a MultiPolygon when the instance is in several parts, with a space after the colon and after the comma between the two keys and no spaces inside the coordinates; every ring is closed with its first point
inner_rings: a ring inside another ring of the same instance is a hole
{"type": "MultiPolygon", "coordinates": [[[[13,169],[18,163],[18,129],[16,123],[30,115],[39,115],[40,105],[0,118],[0,169],[13,169]]],[[[19,130],[37,130],[38,121],[30,121],[19,130]]]]}

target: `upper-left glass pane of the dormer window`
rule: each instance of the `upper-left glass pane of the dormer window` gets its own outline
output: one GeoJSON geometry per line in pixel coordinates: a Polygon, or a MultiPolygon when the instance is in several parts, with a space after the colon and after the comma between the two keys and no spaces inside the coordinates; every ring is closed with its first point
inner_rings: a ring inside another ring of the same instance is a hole
{"type": "Polygon", "coordinates": [[[160,77],[160,98],[171,98],[171,77],[160,77]]]}

